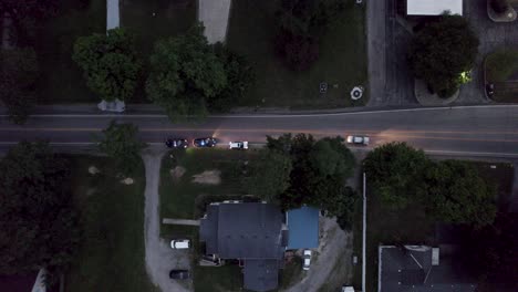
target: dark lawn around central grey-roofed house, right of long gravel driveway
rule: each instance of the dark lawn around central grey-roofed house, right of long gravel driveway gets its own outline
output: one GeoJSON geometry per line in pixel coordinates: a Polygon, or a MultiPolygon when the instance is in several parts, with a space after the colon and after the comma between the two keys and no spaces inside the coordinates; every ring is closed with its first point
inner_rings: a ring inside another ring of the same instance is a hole
{"type": "MultiPolygon", "coordinates": [[[[241,167],[252,152],[227,149],[194,149],[172,152],[174,158],[165,156],[160,168],[160,218],[199,219],[203,216],[203,198],[245,195],[241,185],[241,167]],[[173,169],[173,171],[172,171],[173,169]],[[210,170],[220,171],[207,173],[210,170]],[[203,175],[204,174],[204,175],[203,175]],[[199,182],[194,182],[195,176],[199,182]],[[218,177],[220,181],[218,182],[218,177]]],[[[164,238],[187,237],[195,242],[195,253],[200,252],[197,242],[198,228],[186,226],[162,226],[164,238]]],[[[196,291],[241,291],[242,274],[236,264],[199,267],[194,257],[194,283],[196,291]]]]}

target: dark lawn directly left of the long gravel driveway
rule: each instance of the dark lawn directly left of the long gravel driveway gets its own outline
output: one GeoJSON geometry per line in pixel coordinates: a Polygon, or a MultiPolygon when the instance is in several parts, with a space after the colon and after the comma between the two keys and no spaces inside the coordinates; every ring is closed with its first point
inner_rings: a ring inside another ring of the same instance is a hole
{"type": "Polygon", "coordinates": [[[66,291],[158,291],[144,265],[144,187],[142,166],[126,186],[113,164],[101,157],[73,156],[72,187],[80,209],[83,242],[66,277],[66,291]],[[90,166],[102,173],[89,174],[90,166]]]}

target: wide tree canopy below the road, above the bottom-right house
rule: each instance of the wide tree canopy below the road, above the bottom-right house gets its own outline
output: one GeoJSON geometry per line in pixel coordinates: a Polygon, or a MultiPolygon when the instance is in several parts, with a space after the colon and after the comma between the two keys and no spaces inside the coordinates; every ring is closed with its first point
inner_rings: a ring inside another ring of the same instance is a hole
{"type": "Polygon", "coordinates": [[[367,185],[388,208],[424,206],[442,222],[481,227],[496,212],[496,188],[467,161],[432,161],[422,150],[391,143],[370,152],[364,160],[367,185]]]}

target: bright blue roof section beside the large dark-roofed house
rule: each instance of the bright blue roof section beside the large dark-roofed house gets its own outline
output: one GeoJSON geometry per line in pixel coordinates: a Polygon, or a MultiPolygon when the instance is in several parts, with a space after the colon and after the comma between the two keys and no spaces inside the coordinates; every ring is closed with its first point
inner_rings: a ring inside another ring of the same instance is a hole
{"type": "Polygon", "coordinates": [[[286,249],[313,249],[319,247],[319,209],[303,206],[286,215],[289,230],[286,249]]]}

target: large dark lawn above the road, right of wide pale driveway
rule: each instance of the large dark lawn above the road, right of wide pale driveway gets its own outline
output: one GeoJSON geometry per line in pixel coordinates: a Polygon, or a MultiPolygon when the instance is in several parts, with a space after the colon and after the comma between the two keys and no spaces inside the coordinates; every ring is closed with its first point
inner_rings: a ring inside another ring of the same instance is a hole
{"type": "MultiPolygon", "coordinates": [[[[367,85],[364,6],[346,1],[345,10],[322,38],[317,63],[308,71],[293,72],[273,52],[278,3],[257,0],[232,2],[227,43],[230,49],[246,55],[256,70],[256,84],[242,96],[239,105],[294,108],[353,106],[350,97],[352,87],[367,85]],[[325,96],[319,93],[321,82],[329,84],[325,96]],[[333,84],[338,84],[338,88],[333,84]]],[[[354,105],[365,102],[366,96],[354,105]]]]}

